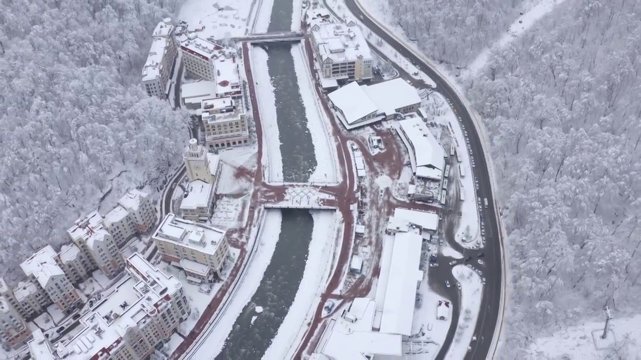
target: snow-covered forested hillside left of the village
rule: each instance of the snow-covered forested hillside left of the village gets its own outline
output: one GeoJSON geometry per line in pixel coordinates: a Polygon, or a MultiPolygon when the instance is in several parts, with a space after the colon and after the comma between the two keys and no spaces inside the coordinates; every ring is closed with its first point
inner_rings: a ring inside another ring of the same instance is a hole
{"type": "Polygon", "coordinates": [[[66,242],[122,170],[153,187],[178,163],[186,115],[139,86],[178,6],[0,0],[0,270],[66,242]]]}

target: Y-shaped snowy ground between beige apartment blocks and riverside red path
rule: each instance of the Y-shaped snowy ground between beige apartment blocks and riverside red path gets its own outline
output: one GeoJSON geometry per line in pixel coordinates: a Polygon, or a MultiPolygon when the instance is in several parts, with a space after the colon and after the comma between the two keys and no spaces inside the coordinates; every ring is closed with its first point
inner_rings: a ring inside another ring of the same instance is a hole
{"type": "MultiPolygon", "coordinates": [[[[213,297],[215,297],[215,295],[221,289],[222,283],[226,281],[229,275],[229,271],[231,271],[236,261],[238,260],[238,254],[240,254],[240,250],[229,248],[229,252],[231,253],[231,261],[228,261],[228,263],[225,265],[225,268],[222,270],[221,281],[216,282],[211,286],[191,284],[187,281],[187,275],[185,274],[185,272],[169,265],[169,263],[165,261],[162,261],[158,265],[158,268],[163,270],[165,274],[174,275],[180,281],[183,289],[185,289],[185,294],[187,295],[187,300],[189,302],[189,307],[192,313],[189,315],[187,320],[178,325],[178,332],[183,334],[183,336],[187,336],[187,334],[189,334],[194,326],[196,326],[196,322],[198,322],[198,319],[203,314],[204,309],[206,309],[206,307],[212,301],[213,297]],[[206,293],[207,290],[209,290],[210,292],[206,293]]],[[[171,348],[170,350],[171,352],[173,352],[174,350],[176,350],[176,348],[171,348]]]]}

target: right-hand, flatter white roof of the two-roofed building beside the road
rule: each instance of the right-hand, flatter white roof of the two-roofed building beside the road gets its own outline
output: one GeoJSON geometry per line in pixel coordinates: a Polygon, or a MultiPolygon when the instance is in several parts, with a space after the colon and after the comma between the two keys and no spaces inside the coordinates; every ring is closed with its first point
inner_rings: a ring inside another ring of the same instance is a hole
{"type": "Polygon", "coordinates": [[[367,96],[378,106],[379,113],[391,115],[414,104],[420,104],[418,90],[401,78],[363,86],[367,96]]]}

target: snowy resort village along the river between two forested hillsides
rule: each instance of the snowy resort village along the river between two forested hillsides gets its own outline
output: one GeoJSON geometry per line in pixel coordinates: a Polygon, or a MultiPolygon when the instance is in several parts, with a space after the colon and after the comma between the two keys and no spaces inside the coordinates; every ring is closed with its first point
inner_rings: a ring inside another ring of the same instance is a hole
{"type": "Polygon", "coordinates": [[[158,23],[141,86],[190,114],[183,162],[0,281],[8,358],[485,358],[503,275],[474,124],[340,6],[158,23]]]}

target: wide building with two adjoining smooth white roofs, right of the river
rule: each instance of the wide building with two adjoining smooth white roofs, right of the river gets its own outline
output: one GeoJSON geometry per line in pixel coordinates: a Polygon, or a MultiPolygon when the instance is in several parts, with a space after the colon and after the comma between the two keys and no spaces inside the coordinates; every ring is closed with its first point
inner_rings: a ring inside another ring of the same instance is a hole
{"type": "Polygon", "coordinates": [[[419,92],[401,78],[374,85],[352,82],[328,97],[347,129],[395,119],[397,114],[417,111],[420,106],[419,92]]]}

